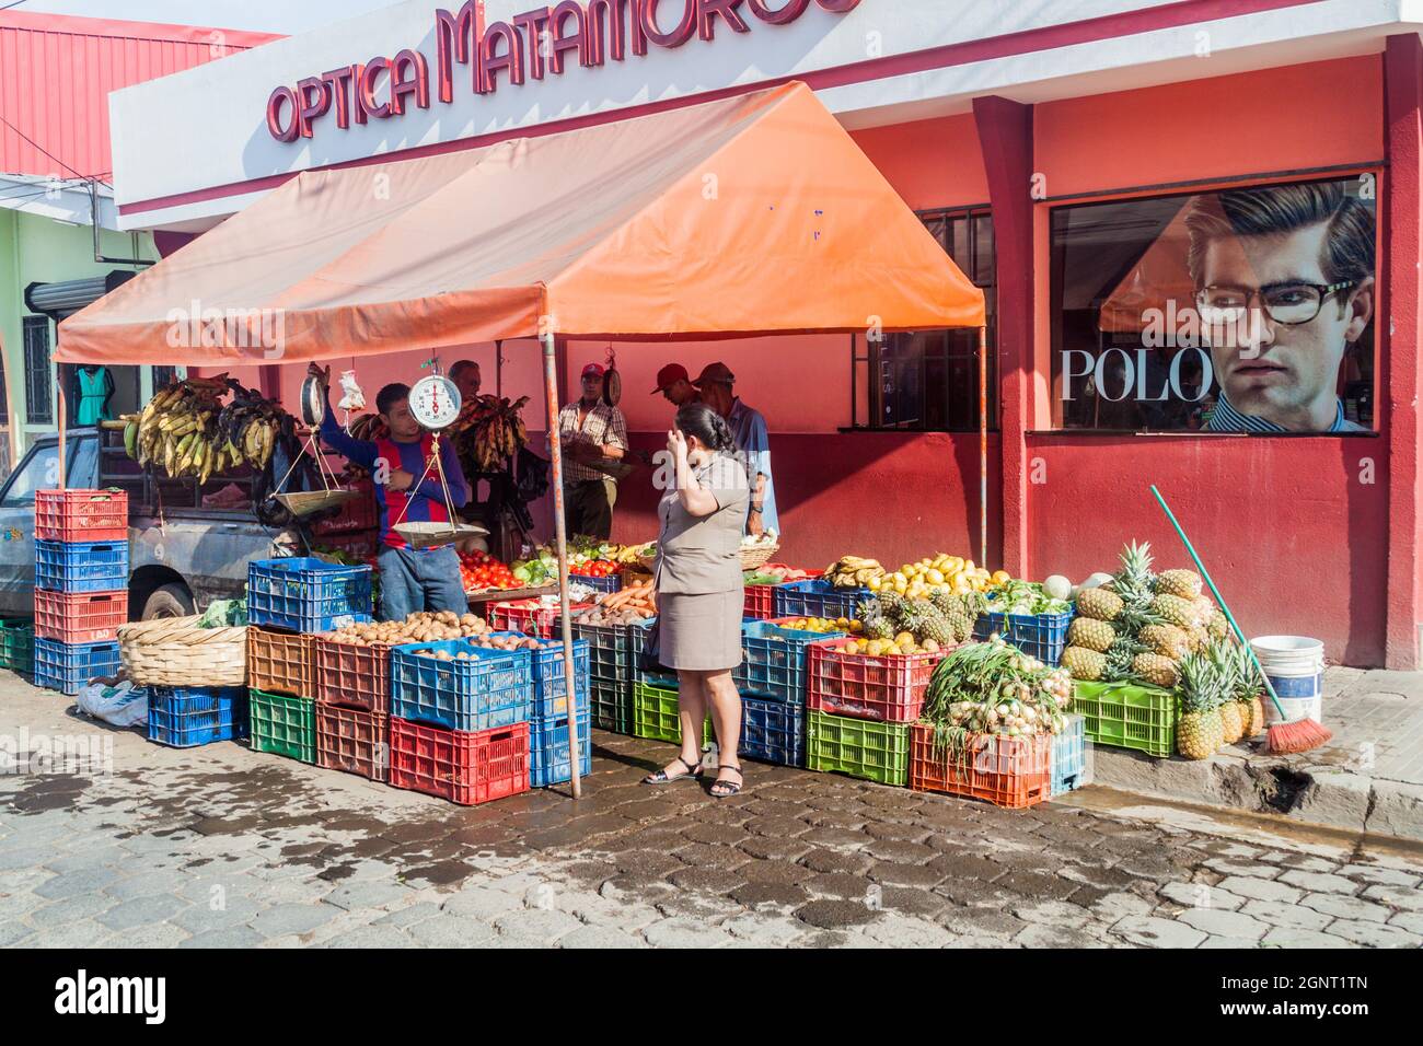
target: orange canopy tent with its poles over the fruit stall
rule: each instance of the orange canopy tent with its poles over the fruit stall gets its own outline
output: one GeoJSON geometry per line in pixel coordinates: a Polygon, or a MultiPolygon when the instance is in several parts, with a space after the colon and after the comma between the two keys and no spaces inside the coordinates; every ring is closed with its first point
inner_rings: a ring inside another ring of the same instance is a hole
{"type": "MultiPolygon", "coordinates": [[[[791,83],[478,149],[303,172],[64,320],[54,359],[295,363],[539,337],[552,433],[555,336],[983,323],[983,293],[814,93],[791,83]],[[192,339],[195,312],[221,322],[192,339]]],[[[982,401],[982,333],[979,357],[982,401]]],[[[549,445],[566,593],[562,454],[549,445]]],[[[572,679],[566,595],[561,602],[572,679]]],[[[578,796],[576,747],[571,759],[578,796]]]]}

